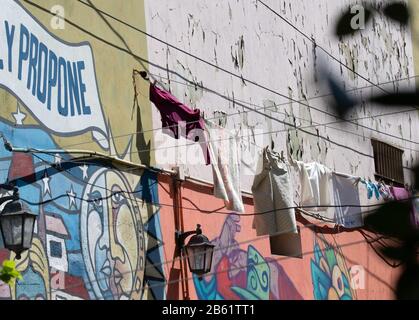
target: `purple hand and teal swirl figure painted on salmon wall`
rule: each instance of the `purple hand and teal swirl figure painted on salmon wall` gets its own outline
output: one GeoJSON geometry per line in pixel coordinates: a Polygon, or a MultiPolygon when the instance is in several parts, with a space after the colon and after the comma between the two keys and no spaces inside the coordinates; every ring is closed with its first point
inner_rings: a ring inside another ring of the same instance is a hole
{"type": "Polygon", "coordinates": [[[229,215],[219,237],[211,241],[214,252],[209,276],[194,277],[197,296],[202,300],[302,299],[283,267],[263,257],[249,245],[243,250],[235,236],[240,232],[240,216],[229,215]]]}

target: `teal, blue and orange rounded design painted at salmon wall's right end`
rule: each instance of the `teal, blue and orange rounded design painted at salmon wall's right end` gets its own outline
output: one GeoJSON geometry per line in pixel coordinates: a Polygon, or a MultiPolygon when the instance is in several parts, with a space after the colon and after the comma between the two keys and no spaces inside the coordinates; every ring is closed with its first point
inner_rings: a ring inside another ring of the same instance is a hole
{"type": "Polygon", "coordinates": [[[353,300],[349,269],[336,241],[331,246],[324,236],[315,235],[314,259],[311,260],[313,294],[316,300],[353,300]]]}

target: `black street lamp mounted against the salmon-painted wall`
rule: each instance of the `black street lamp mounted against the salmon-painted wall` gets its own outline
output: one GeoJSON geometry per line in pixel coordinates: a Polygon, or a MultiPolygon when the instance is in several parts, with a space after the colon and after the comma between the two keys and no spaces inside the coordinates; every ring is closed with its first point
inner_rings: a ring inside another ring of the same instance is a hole
{"type": "Polygon", "coordinates": [[[197,225],[195,231],[188,231],[181,233],[176,232],[176,244],[180,249],[180,253],[185,250],[188,258],[189,269],[192,273],[197,274],[199,279],[211,271],[212,256],[214,253],[214,245],[202,234],[201,225],[197,225]],[[185,245],[185,240],[190,235],[193,235],[188,244],[185,245]]]}

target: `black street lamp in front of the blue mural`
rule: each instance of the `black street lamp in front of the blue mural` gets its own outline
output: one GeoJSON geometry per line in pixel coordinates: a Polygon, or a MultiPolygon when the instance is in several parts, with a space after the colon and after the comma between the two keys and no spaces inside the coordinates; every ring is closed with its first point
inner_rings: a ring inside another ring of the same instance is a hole
{"type": "Polygon", "coordinates": [[[28,206],[19,199],[16,187],[9,185],[0,185],[0,187],[13,190],[13,195],[0,198],[0,205],[9,201],[0,214],[0,229],[4,247],[15,252],[16,259],[20,259],[20,254],[30,249],[32,245],[37,215],[32,213],[28,206]]]}

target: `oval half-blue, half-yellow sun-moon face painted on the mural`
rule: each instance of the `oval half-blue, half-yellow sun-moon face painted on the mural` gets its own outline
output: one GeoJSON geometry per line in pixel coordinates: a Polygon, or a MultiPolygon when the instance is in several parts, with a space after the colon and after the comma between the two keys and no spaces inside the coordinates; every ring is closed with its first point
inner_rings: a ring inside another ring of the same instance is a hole
{"type": "MultiPolygon", "coordinates": [[[[144,226],[123,175],[100,169],[83,198],[80,235],[83,259],[97,299],[140,299],[144,280],[144,226]]],[[[131,191],[132,192],[132,191],[131,191]]]]}

